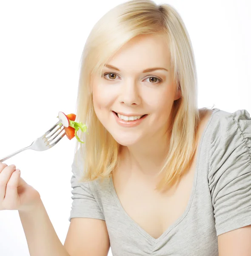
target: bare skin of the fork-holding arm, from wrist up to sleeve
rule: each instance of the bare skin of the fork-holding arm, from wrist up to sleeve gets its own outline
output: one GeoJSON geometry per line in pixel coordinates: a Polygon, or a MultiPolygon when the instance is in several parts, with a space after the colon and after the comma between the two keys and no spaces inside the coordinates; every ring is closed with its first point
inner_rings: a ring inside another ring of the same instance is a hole
{"type": "Polygon", "coordinates": [[[106,222],[94,218],[72,218],[65,244],[59,240],[40,201],[30,212],[19,216],[30,256],[107,256],[110,240],[106,222]]]}

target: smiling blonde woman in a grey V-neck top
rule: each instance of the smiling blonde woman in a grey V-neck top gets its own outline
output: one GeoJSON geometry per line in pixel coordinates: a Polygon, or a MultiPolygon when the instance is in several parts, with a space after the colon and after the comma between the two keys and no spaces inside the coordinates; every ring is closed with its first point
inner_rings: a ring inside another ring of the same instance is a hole
{"type": "Polygon", "coordinates": [[[31,189],[19,207],[31,255],[251,255],[251,118],[197,108],[191,41],[173,7],[133,0],[97,22],[76,112],[89,134],[72,163],[66,241],[31,189]]]}

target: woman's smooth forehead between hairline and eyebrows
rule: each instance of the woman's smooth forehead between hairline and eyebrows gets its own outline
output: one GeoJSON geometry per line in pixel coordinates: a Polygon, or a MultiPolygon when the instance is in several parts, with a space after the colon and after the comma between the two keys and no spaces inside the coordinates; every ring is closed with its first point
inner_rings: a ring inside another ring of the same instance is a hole
{"type": "Polygon", "coordinates": [[[138,35],[119,49],[106,64],[122,72],[141,72],[149,67],[170,67],[170,52],[163,35],[138,35]]]}

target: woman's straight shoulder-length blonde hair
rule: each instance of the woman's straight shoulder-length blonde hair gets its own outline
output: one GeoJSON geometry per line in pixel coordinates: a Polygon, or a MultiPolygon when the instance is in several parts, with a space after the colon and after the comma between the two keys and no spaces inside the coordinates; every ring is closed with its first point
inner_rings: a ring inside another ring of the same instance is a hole
{"type": "Polygon", "coordinates": [[[125,43],[137,35],[165,35],[171,53],[171,70],[182,97],[174,101],[170,146],[157,185],[161,190],[172,186],[188,168],[197,145],[197,73],[188,32],[180,15],[169,4],[152,0],[131,0],[107,12],[89,34],[80,61],[76,122],[86,123],[88,133],[78,135],[84,170],[81,181],[111,177],[119,161],[120,144],[97,118],[91,81],[125,43]],[[112,26],[111,26],[112,24],[112,26]]]}

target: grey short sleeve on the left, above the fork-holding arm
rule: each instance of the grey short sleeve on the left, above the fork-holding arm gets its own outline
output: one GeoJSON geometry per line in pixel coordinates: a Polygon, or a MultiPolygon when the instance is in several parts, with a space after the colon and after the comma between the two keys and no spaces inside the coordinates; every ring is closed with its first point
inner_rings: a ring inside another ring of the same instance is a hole
{"type": "Polygon", "coordinates": [[[71,218],[96,218],[105,220],[103,212],[97,204],[97,201],[90,189],[90,182],[79,182],[82,174],[79,168],[81,163],[80,165],[77,165],[77,159],[81,160],[81,157],[80,155],[76,157],[77,154],[80,154],[80,150],[75,154],[71,165],[71,171],[73,173],[71,176],[71,188],[73,189],[71,190],[71,198],[73,201],[68,220],[71,221],[71,218]]]}

